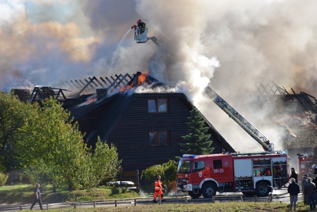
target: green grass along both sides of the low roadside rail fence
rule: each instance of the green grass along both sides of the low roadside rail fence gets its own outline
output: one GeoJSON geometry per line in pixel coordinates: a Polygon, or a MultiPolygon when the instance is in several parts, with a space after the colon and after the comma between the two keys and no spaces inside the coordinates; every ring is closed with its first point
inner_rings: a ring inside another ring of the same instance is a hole
{"type": "MultiPolygon", "coordinates": [[[[34,185],[14,185],[0,187],[0,204],[14,204],[14,205],[31,205],[33,202],[34,185]]],[[[115,188],[115,187],[101,187],[87,190],[69,191],[67,188],[57,188],[53,192],[52,186],[41,186],[43,193],[42,199],[44,204],[52,203],[73,203],[96,201],[106,199],[127,199],[140,197],[134,191],[129,189],[115,188]]],[[[152,195],[151,195],[152,196],[152,195]]],[[[38,204],[37,204],[38,205],[38,204]]],[[[287,203],[278,202],[223,202],[223,203],[203,203],[203,204],[184,204],[184,203],[168,203],[162,205],[129,205],[118,207],[100,208],[81,208],[77,207],[75,211],[78,212],[289,212],[287,203]]],[[[38,209],[38,208],[37,208],[38,209]]],[[[51,212],[74,211],[74,208],[50,209],[51,212]]],[[[308,212],[309,206],[304,206],[303,202],[298,202],[297,211],[308,212]]]]}

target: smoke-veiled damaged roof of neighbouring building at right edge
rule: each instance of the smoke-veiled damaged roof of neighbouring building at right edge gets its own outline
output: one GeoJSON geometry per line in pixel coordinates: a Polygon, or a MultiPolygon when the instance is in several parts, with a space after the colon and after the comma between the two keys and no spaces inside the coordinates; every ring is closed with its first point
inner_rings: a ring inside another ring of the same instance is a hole
{"type": "Polygon", "coordinates": [[[265,82],[258,88],[259,99],[256,103],[263,108],[274,108],[270,110],[268,118],[286,132],[283,138],[283,148],[288,151],[297,151],[317,147],[317,100],[315,97],[300,92],[293,94],[279,87],[274,82],[265,82]],[[261,92],[260,92],[261,91],[261,92]]]}

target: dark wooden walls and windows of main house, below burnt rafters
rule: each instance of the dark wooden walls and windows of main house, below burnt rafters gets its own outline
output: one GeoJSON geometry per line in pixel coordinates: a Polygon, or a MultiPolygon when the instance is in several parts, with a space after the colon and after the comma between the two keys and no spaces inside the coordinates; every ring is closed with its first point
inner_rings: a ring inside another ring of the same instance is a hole
{"type": "MultiPolygon", "coordinates": [[[[182,93],[118,93],[84,107],[68,109],[87,133],[88,145],[94,147],[98,136],[114,144],[124,170],[143,170],[181,156],[194,108],[182,93]]],[[[235,152],[207,120],[206,125],[213,153],[235,152]]]]}

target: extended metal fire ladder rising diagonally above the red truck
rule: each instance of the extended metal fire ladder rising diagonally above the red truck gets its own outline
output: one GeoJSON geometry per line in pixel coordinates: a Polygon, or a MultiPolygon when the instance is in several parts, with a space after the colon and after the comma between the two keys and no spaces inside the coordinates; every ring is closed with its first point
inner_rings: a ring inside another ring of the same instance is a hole
{"type": "MultiPolygon", "coordinates": [[[[264,151],[283,154],[283,151],[275,146],[270,140],[268,140],[257,128],[255,128],[249,121],[247,121],[242,115],[240,115],[232,106],[224,101],[211,87],[207,86],[205,89],[206,94],[213,100],[213,102],[219,106],[225,113],[229,115],[235,122],[237,122],[252,138],[254,138],[259,144],[262,145],[264,151]]],[[[285,153],[284,153],[285,154],[285,153]]]]}

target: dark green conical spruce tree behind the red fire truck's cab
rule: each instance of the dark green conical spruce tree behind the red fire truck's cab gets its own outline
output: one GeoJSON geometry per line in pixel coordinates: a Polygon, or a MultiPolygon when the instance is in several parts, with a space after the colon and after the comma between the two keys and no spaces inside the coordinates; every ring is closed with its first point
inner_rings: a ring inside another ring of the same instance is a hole
{"type": "Polygon", "coordinates": [[[209,127],[206,126],[197,108],[190,111],[188,119],[190,120],[190,122],[186,123],[189,127],[188,135],[182,136],[187,142],[181,144],[181,147],[184,148],[181,150],[181,153],[195,155],[211,154],[214,148],[210,147],[212,144],[212,141],[209,140],[211,134],[207,134],[209,127]]]}

